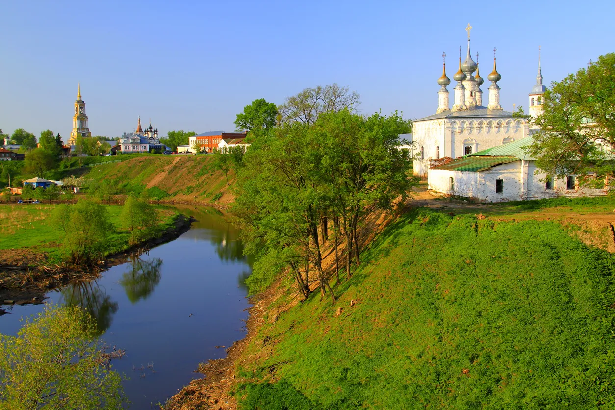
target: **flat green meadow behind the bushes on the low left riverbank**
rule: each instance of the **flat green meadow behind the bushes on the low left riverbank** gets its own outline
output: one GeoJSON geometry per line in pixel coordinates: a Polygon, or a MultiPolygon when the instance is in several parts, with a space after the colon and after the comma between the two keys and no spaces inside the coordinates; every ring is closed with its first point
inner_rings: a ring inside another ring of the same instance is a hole
{"type": "MultiPolygon", "coordinates": [[[[46,253],[50,262],[59,262],[61,259],[59,246],[63,240],[63,232],[50,223],[50,216],[55,206],[46,204],[2,205],[0,207],[0,220],[2,221],[0,254],[6,254],[8,250],[28,250],[33,253],[46,253]]],[[[106,208],[109,220],[116,226],[116,230],[108,237],[104,256],[129,248],[130,237],[125,227],[117,222],[122,207],[106,205],[106,208]]],[[[172,226],[178,214],[168,209],[161,209],[159,215],[161,215],[160,229],[164,230],[172,226]]],[[[1,259],[4,261],[6,258],[1,259]]]]}

